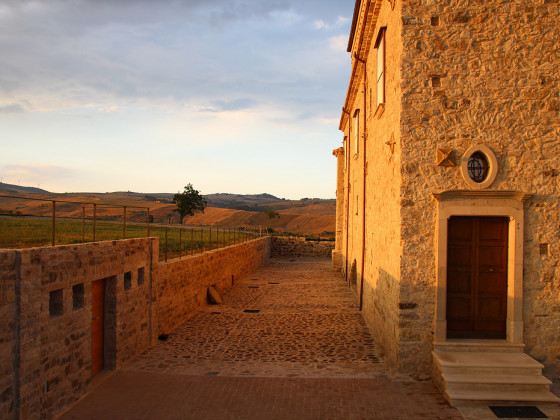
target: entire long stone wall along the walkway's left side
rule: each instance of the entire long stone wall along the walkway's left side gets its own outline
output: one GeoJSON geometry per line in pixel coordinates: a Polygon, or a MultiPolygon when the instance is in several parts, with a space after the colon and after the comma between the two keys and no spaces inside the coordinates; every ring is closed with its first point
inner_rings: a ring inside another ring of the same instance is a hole
{"type": "Polygon", "coordinates": [[[0,251],[0,418],[51,418],[86,392],[94,282],[118,369],[269,254],[269,238],[161,264],[157,238],[0,251]]]}

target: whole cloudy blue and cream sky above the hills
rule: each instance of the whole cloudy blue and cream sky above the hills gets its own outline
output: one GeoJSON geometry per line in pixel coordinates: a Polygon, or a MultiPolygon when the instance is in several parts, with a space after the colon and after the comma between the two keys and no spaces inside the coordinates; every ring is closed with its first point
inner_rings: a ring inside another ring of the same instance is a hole
{"type": "Polygon", "coordinates": [[[351,0],[1,0],[0,180],[334,198],[351,0]]]}

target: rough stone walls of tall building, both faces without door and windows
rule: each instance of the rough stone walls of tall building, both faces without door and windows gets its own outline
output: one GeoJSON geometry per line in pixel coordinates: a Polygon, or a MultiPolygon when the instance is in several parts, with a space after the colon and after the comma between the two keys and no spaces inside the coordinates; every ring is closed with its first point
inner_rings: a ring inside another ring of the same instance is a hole
{"type": "MultiPolygon", "coordinates": [[[[431,374],[436,313],[445,306],[445,297],[439,306],[437,298],[446,293],[445,282],[438,284],[438,250],[447,246],[447,238],[438,242],[434,194],[478,188],[466,181],[461,162],[481,145],[497,160],[497,176],[486,191],[532,194],[523,204],[522,261],[508,262],[521,272],[523,296],[516,290],[515,300],[522,298],[523,314],[511,315],[508,303],[508,323],[524,324],[526,351],[560,377],[558,5],[557,0],[360,4],[340,124],[348,138],[341,249],[364,317],[398,371],[418,378],[431,374]],[[386,98],[376,107],[375,40],[384,27],[386,98]],[[450,151],[450,163],[437,163],[438,149],[450,151]]],[[[485,206],[477,200],[476,206],[485,206]]]]}

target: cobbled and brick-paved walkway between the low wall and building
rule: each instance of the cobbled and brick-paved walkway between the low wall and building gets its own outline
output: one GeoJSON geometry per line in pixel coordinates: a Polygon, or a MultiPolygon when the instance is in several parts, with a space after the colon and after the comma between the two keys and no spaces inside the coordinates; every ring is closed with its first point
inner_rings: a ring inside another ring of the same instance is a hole
{"type": "Polygon", "coordinates": [[[389,378],[355,302],[330,261],[271,260],[61,418],[462,419],[389,378]]]}

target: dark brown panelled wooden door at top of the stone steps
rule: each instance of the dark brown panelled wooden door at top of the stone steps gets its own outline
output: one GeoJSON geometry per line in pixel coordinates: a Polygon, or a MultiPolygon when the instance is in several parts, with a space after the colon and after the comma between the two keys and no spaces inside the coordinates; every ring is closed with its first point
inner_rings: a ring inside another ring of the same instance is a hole
{"type": "Polygon", "coordinates": [[[508,219],[449,219],[447,337],[505,338],[508,219]]]}

